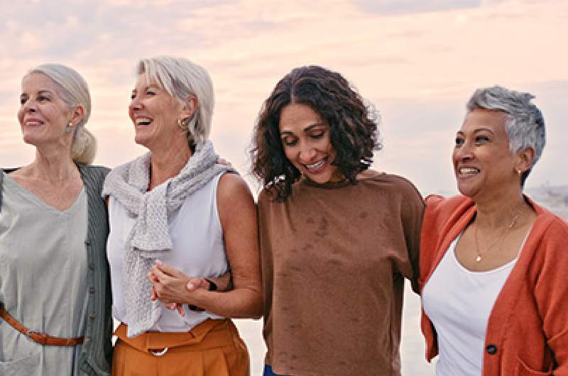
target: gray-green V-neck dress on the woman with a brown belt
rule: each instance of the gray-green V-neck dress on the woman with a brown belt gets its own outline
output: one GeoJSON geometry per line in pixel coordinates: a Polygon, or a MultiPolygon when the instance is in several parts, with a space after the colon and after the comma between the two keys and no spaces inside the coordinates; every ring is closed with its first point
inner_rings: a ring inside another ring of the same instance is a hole
{"type": "MultiPolygon", "coordinates": [[[[0,172],[2,173],[2,172],[0,172]]],[[[0,302],[23,325],[83,336],[87,306],[87,195],[59,211],[4,175],[0,214],[0,302]]],[[[0,319],[0,375],[82,375],[81,345],[43,346],[0,319]]]]}

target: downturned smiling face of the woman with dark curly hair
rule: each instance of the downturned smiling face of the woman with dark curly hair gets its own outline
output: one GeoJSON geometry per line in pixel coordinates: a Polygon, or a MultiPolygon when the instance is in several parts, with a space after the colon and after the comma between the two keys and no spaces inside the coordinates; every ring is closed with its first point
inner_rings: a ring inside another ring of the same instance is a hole
{"type": "Polygon", "coordinates": [[[279,128],[284,153],[302,175],[319,184],[341,179],[332,165],[329,124],[320,114],[305,104],[288,104],[280,111],[279,128]]]}

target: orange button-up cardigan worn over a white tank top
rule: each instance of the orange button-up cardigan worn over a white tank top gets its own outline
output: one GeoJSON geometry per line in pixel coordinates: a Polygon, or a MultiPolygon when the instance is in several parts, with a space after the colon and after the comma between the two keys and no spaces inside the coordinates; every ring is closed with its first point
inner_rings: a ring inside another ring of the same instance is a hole
{"type": "MultiPolygon", "coordinates": [[[[489,315],[483,376],[568,376],[568,224],[525,199],[537,219],[489,315]]],[[[476,211],[463,196],[426,201],[420,292],[476,211]]],[[[421,326],[430,361],[438,353],[437,339],[424,310],[421,326]]]]}

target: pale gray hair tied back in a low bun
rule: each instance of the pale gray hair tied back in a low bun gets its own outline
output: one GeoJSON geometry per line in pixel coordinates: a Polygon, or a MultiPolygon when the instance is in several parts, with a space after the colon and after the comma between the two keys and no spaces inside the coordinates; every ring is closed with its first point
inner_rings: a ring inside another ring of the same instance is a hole
{"type": "Polygon", "coordinates": [[[62,64],[38,65],[29,70],[24,78],[33,73],[45,74],[49,77],[59,89],[57,94],[70,109],[77,104],[82,104],[84,107],[84,115],[75,127],[71,157],[75,162],[91,164],[97,153],[97,140],[84,127],[91,115],[91,95],[87,82],[76,70],[62,64]]]}

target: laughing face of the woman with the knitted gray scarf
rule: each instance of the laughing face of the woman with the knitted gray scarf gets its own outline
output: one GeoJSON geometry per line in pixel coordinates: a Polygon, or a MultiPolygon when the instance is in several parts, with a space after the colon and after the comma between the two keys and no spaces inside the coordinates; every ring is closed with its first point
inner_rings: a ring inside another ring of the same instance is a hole
{"type": "Polygon", "coordinates": [[[156,82],[148,82],[145,74],[138,76],[132,90],[129,116],[134,124],[136,143],[153,149],[171,142],[187,142],[185,133],[178,126],[178,119],[185,118],[184,106],[156,82]]]}

